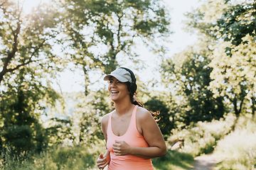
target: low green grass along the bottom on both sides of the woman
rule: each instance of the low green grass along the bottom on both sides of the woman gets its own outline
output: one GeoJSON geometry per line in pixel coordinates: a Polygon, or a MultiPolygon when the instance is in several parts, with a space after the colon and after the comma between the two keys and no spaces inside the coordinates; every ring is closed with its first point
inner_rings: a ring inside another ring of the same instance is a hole
{"type": "MultiPolygon", "coordinates": [[[[93,148],[95,149],[95,148],[93,148]]],[[[98,152],[85,147],[57,147],[42,154],[34,154],[23,159],[1,155],[0,169],[3,170],[94,170],[98,152]]],[[[193,167],[193,157],[190,154],[171,151],[165,157],[153,159],[156,170],[186,170],[193,167]]]]}

